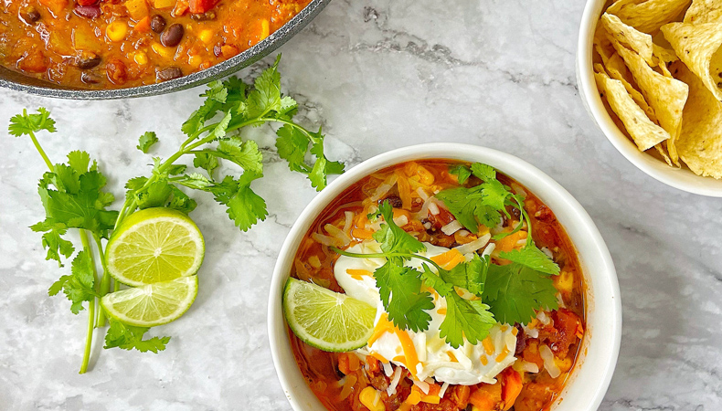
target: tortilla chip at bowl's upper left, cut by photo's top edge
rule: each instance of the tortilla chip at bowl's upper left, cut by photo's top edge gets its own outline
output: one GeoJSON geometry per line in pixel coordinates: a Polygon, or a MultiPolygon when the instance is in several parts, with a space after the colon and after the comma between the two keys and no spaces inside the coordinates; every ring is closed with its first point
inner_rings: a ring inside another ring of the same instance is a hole
{"type": "Polygon", "coordinates": [[[624,24],[653,34],[659,27],[677,20],[691,0],[620,0],[607,13],[620,17],[624,24]]]}

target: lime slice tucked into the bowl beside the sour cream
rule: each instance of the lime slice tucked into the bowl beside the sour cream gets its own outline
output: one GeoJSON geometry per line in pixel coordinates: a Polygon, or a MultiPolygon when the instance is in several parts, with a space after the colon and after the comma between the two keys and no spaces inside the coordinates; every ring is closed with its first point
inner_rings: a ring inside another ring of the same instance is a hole
{"type": "Polygon", "coordinates": [[[286,283],[283,313],[298,338],[329,352],[366,345],[376,318],[376,308],[366,302],[299,279],[286,283]]]}

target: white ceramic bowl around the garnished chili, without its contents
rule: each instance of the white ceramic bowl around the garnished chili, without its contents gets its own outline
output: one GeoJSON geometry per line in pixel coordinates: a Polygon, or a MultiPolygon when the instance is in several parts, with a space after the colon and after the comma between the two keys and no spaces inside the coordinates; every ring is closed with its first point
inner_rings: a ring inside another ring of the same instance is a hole
{"type": "Polygon", "coordinates": [[[621,338],[621,300],[617,274],[600,232],[568,192],[533,165],[492,149],[456,143],[431,143],[377,155],[347,171],[317,195],[298,217],[276,262],[269,298],[269,337],[273,363],[296,411],[326,411],[303,379],[293,357],[281,309],[283,286],[303,236],[326,205],[362,177],[410,160],[455,159],[494,166],[524,184],[557,216],[579,252],[587,301],[587,332],[580,358],[553,411],[593,411],[600,405],[617,363],[621,338]]]}

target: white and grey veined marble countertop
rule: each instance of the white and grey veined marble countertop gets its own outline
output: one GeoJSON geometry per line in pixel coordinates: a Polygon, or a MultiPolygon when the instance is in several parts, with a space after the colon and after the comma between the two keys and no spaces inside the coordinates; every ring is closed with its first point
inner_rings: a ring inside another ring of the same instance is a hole
{"type": "MultiPolygon", "coordinates": [[[[413,143],[467,142],[513,151],[551,175],[586,207],[619,272],[621,353],[600,409],[722,409],[722,202],[653,181],[590,120],[574,72],[583,6],[334,0],[281,48],[283,85],[303,102],[305,123],[324,125],[329,156],[349,166],[413,143]]],[[[158,132],[156,153],[167,156],[201,91],[90,102],[0,90],[0,121],[48,107],[59,130],[42,137],[48,154],[87,150],[121,196],[127,178],[149,170],[137,137],[158,132]]],[[[291,409],[271,362],[267,295],[281,242],[314,191],[279,160],[271,134],[260,142],[273,184],[256,187],[269,203],[265,222],[241,233],[198,197],[201,288],[181,321],[154,331],[173,336],[167,350],[98,344],[84,375],[85,317],[48,297],[61,271],[27,228],[42,216],[44,165],[27,139],[2,134],[0,409],[291,409]]]]}

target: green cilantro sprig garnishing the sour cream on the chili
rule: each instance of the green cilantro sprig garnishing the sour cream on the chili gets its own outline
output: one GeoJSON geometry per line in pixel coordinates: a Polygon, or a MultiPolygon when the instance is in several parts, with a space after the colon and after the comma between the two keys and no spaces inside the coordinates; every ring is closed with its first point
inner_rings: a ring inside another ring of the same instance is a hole
{"type": "Polygon", "coordinates": [[[497,321],[526,324],[536,316],[536,311],[556,310],[557,290],[551,276],[559,273],[559,267],[536,248],[524,198],[502,184],[493,167],[482,163],[473,163],[471,167],[458,164],[451,167],[450,172],[458,176],[459,184],[465,184],[471,175],[482,181],[437,195],[451,214],[473,232],[477,232],[480,225],[496,227],[502,216],[510,217],[507,207],[519,210],[522,221],[512,230],[494,236],[496,240],[502,239],[526,226],[525,247],[499,253],[504,264],[494,263],[488,255],[482,258],[475,254],[453,269],[442,269],[432,259],[419,254],[426,250],[423,243],[394,223],[393,209],[388,202],[369,215],[369,219],[384,219],[385,223],[373,236],[383,252],[358,254],[338,248],[334,251],[352,258],[386,258],[374,277],[389,320],[401,330],[429,329],[427,311],[434,305],[426,288],[435,290],[447,304],[440,336],[456,348],[464,339],[472,344],[482,341],[497,321]],[[420,270],[406,266],[411,258],[423,261],[420,270]],[[459,289],[468,291],[472,298],[462,298],[457,292],[459,289]]]}

